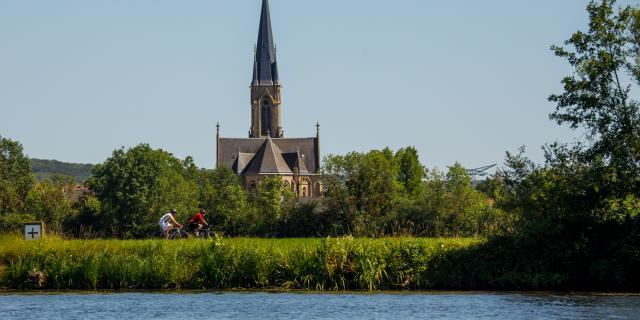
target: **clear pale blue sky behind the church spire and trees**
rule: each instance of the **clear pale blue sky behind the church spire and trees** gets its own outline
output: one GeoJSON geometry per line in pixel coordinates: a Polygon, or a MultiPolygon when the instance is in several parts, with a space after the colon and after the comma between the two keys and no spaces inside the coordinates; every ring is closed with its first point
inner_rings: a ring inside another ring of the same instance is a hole
{"type": "MultiPolygon", "coordinates": [[[[415,146],[428,167],[501,163],[571,141],[546,98],[549,47],[588,1],[271,0],[287,137],[322,152],[415,146]]],[[[620,2],[619,4],[632,3],[620,2]]],[[[35,158],[99,163],[149,143],[215,165],[246,137],[260,0],[0,1],[0,135],[35,158]]]]}

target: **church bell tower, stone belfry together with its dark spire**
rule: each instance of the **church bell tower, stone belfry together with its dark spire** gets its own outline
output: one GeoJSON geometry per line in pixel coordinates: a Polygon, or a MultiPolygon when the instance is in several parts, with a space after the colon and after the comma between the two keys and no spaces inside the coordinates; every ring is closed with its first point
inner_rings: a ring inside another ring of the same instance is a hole
{"type": "Polygon", "coordinates": [[[284,137],[281,125],[280,90],[269,1],[263,0],[258,43],[253,61],[249,138],[284,137]]]}

